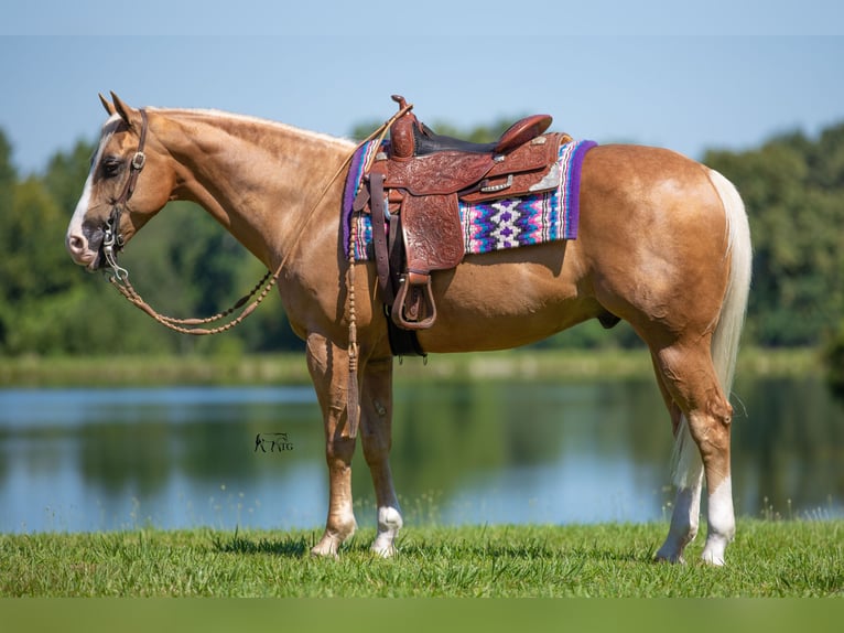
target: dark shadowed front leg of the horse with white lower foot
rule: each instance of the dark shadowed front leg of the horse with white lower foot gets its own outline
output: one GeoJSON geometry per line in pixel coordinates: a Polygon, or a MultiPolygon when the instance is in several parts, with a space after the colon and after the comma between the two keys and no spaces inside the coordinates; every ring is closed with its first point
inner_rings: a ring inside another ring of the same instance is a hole
{"type": "Polygon", "coordinates": [[[369,360],[361,377],[360,439],[378,504],[378,535],[372,551],[389,557],[396,552],[394,540],[402,526],[389,462],[392,446],[392,356],[369,360]]]}

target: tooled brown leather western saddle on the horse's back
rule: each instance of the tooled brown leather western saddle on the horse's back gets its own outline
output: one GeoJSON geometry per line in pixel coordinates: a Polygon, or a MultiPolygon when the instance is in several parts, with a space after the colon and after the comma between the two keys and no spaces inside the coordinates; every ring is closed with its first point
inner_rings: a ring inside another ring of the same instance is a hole
{"type": "MultiPolygon", "coordinates": [[[[408,108],[403,97],[392,98],[408,108]]],[[[423,330],[436,320],[431,272],[456,267],[465,254],[458,200],[487,202],[559,185],[559,149],[571,137],[543,133],[551,120],[526,117],[490,143],[436,135],[410,108],[392,124],[353,210],[371,214],[379,288],[398,328],[423,330]]]]}

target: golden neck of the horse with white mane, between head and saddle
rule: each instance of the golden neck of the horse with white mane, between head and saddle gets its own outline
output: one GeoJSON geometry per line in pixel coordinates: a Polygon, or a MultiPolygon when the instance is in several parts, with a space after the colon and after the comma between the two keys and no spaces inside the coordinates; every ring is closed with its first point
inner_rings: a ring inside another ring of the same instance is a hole
{"type": "Polygon", "coordinates": [[[187,173],[178,197],[192,200],[264,265],[274,268],[318,207],[339,213],[345,140],[221,112],[174,112],[172,153],[187,173]]]}

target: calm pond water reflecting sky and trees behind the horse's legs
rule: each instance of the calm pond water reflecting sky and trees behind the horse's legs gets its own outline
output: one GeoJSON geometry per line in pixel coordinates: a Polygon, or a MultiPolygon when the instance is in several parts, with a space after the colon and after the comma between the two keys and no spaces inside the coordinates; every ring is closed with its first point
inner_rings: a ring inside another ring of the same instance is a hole
{"type": "MultiPolygon", "coordinates": [[[[809,378],[734,391],[736,512],[844,516],[844,407],[809,378]]],[[[407,524],[670,513],[670,423],[651,380],[435,382],[396,398],[407,524]]],[[[320,528],[323,447],[310,387],[0,389],[0,532],[320,528]]],[[[359,448],[353,470],[371,526],[359,448]]]]}

